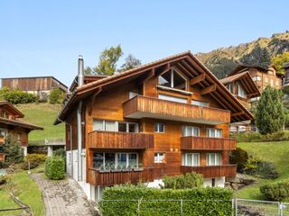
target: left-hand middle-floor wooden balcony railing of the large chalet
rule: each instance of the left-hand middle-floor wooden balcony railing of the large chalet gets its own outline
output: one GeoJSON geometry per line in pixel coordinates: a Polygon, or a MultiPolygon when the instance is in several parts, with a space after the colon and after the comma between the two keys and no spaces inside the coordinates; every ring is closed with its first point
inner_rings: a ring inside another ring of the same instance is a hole
{"type": "Polygon", "coordinates": [[[154,134],[95,130],[89,133],[89,148],[154,148],[154,134]]]}

